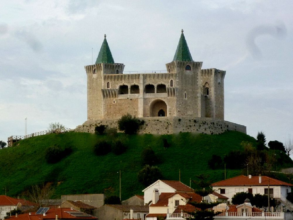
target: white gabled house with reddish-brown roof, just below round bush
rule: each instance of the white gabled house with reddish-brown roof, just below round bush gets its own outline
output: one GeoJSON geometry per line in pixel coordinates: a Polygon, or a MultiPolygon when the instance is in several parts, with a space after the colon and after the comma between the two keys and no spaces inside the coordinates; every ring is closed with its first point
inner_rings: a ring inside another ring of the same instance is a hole
{"type": "Polygon", "coordinates": [[[157,199],[159,199],[159,195],[163,192],[193,192],[193,189],[180,181],[159,179],[142,190],[142,192],[144,192],[144,204],[150,204],[151,201],[154,201],[154,195],[158,196],[157,199]],[[158,194],[154,194],[154,190],[158,194]]]}

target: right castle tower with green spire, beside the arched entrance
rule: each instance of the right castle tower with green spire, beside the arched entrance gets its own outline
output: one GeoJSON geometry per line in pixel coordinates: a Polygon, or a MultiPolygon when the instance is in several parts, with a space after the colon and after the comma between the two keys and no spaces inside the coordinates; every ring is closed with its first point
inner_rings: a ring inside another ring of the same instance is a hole
{"type": "Polygon", "coordinates": [[[169,73],[176,74],[176,115],[200,117],[200,70],[202,62],[192,59],[183,30],[171,63],[166,64],[169,73]]]}

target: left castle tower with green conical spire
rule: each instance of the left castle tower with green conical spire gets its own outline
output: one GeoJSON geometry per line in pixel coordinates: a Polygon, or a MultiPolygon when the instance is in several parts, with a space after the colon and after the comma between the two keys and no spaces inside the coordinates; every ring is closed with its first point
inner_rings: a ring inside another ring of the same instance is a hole
{"type": "Polygon", "coordinates": [[[106,74],[122,74],[123,63],[114,63],[106,35],[100,48],[96,63],[85,66],[87,74],[87,112],[88,120],[104,118],[103,96],[116,96],[116,89],[110,89],[110,82],[105,81],[106,74]]]}

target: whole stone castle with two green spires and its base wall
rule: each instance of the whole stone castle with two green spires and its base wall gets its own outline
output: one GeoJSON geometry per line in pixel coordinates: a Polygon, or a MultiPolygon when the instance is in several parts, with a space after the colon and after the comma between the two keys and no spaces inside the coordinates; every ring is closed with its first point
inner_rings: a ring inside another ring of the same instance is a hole
{"type": "Polygon", "coordinates": [[[77,131],[93,132],[100,124],[117,127],[117,120],[129,113],[147,121],[143,133],[246,133],[245,126],[224,121],[226,71],[201,69],[183,30],[165,73],[123,74],[124,67],[114,63],[105,35],[96,63],[85,66],[88,120],[77,131]]]}

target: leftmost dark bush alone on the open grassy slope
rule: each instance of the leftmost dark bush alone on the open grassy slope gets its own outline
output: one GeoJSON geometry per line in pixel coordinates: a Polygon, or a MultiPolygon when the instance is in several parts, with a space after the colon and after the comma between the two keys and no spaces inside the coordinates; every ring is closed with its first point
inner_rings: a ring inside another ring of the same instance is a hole
{"type": "Polygon", "coordinates": [[[71,147],[65,147],[64,149],[62,149],[62,147],[60,146],[53,145],[46,149],[45,159],[48,163],[54,164],[71,154],[71,152],[71,147]]]}

